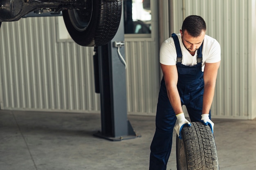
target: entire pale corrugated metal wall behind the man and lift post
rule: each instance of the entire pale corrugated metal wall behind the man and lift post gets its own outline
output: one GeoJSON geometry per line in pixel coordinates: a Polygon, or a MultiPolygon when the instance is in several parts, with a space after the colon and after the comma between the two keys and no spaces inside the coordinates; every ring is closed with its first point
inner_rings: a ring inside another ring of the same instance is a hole
{"type": "MultiPolygon", "coordinates": [[[[213,117],[256,117],[255,0],[184,0],[184,6],[181,0],[167,2],[171,2],[171,32],[179,32],[184,16],[201,15],[207,22],[207,34],[221,44],[213,117]]],[[[125,38],[130,114],[155,115],[161,76],[157,16],[152,17],[153,33],[149,38],[125,38]]],[[[60,27],[55,17],[23,18],[2,24],[1,109],[99,113],[93,48],[61,40],[60,27]]]]}

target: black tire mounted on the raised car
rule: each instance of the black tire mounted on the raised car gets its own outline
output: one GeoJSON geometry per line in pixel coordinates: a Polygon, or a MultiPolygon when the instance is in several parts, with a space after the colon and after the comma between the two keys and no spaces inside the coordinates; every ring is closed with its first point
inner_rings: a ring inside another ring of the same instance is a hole
{"type": "Polygon", "coordinates": [[[85,9],[62,11],[72,39],[81,46],[101,46],[114,38],[122,12],[121,0],[87,0],[85,9]]]}

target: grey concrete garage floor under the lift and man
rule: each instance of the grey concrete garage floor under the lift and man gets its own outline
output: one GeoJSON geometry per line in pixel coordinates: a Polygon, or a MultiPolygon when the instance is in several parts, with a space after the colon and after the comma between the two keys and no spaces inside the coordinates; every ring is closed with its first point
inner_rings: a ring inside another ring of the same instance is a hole
{"type": "MultiPolygon", "coordinates": [[[[142,137],[108,141],[93,136],[100,114],[0,110],[0,170],[147,170],[155,117],[128,119],[142,137]]],[[[256,170],[256,119],[213,122],[220,170],[256,170]]]]}

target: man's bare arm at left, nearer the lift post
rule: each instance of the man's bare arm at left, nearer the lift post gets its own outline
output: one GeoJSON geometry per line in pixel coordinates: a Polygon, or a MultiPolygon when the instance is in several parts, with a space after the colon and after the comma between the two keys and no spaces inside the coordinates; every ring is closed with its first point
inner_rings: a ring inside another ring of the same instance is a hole
{"type": "Polygon", "coordinates": [[[178,82],[178,72],[176,65],[167,66],[161,64],[161,68],[164,74],[164,81],[166,85],[167,95],[171,106],[175,114],[183,113],[180,95],[177,89],[177,82],[178,82]]]}

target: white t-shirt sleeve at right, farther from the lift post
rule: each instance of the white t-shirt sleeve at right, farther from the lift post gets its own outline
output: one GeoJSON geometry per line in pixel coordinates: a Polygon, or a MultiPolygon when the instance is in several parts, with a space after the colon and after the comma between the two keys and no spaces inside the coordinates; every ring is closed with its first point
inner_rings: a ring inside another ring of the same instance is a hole
{"type": "Polygon", "coordinates": [[[207,55],[207,59],[205,60],[206,63],[216,63],[220,61],[220,44],[217,40],[215,40],[212,44],[211,50],[209,51],[209,54],[207,55]]]}

